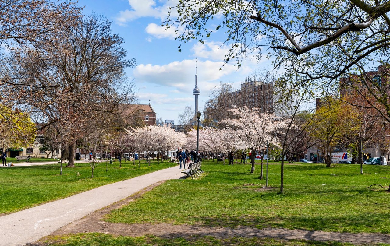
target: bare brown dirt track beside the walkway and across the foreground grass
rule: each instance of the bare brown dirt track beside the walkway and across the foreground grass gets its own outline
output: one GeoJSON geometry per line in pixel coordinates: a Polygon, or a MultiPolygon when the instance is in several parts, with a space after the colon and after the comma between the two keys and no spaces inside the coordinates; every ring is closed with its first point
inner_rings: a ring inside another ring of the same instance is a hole
{"type": "MultiPolygon", "coordinates": [[[[193,235],[207,235],[216,238],[230,237],[267,237],[277,239],[305,239],[313,241],[338,241],[351,242],[353,244],[370,244],[370,243],[388,243],[390,242],[389,234],[352,234],[338,232],[323,232],[323,231],[305,231],[305,230],[288,230],[283,228],[268,228],[256,229],[251,227],[239,226],[236,228],[230,227],[207,227],[201,225],[172,225],[172,224],[121,224],[101,221],[100,219],[108,214],[113,209],[117,209],[122,205],[126,205],[131,201],[142,196],[145,192],[150,191],[154,187],[162,184],[164,181],[148,186],[138,193],[129,196],[115,204],[95,211],[82,219],[79,219],[65,227],[60,228],[52,235],[76,234],[87,232],[100,232],[113,235],[124,235],[131,237],[139,237],[143,235],[156,235],[163,238],[191,237],[193,235]]],[[[246,186],[251,187],[251,184],[246,186]]],[[[259,190],[275,189],[275,187],[263,187],[259,190]]],[[[39,243],[39,242],[38,242],[39,243]]],[[[41,245],[41,244],[34,244],[41,245]]]]}

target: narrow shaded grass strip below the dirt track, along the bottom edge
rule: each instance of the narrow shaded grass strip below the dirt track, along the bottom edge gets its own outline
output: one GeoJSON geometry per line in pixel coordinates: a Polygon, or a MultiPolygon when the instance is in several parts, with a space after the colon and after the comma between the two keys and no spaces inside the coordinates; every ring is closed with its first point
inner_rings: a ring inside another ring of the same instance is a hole
{"type": "MultiPolygon", "coordinates": [[[[64,236],[50,236],[46,237],[43,242],[48,246],[145,246],[145,245],[158,245],[158,246],[353,246],[351,243],[341,242],[318,242],[318,241],[305,241],[305,240],[283,240],[283,239],[270,239],[270,238],[246,238],[246,237],[230,237],[227,239],[216,239],[209,236],[193,236],[189,239],[179,237],[175,239],[165,239],[155,236],[144,237],[125,237],[125,236],[113,236],[109,234],[99,233],[87,233],[76,235],[64,235],[64,236]]],[[[365,244],[367,245],[367,244],[365,244]]],[[[389,246],[390,244],[369,244],[370,246],[380,245],[389,246]]]]}

